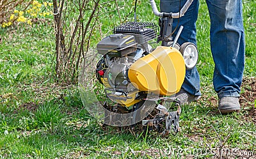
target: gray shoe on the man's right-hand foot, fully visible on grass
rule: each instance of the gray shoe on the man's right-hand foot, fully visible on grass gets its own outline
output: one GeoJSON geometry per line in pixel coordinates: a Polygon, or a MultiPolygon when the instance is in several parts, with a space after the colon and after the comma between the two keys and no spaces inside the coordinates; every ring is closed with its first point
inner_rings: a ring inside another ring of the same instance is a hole
{"type": "Polygon", "coordinates": [[[221,114],[238,112],[240,110],[239,98],[234,96],[224,96],[220,98],[218,109],[221,114]]]}

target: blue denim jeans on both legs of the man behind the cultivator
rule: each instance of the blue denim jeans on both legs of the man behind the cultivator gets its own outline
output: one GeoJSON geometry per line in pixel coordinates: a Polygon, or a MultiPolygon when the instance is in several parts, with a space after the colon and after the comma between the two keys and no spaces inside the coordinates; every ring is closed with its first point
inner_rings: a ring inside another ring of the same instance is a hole
{"type": "MultiPolygon", "coordinates": [[[[186,0],[181,0],[181,7],[186,0]]],[[[244,29],[241,0],[206,0],[211,18],[211,52],[215,63],[213,84],[218,97],[239,96],[244,70],[244,29]]],[[[192,42],[196,45],[196,20],[199,0],[194,0],[188,11],[180,18],[184,26],[178,43],[192,42]]],[[[161,0],[163,12],[179,12],[179,0],[161,0]]],[[[173,29],[178,19],[173,19],[173,29]]],[[[179,29],[179,27],[178,27],[179,29]]],[[[177,30],[178,30],[177,29],[177,30]]],[[[175,33],[173,37],[175,37],[175,33]]],[[[196,67],[186,71],[182,88],[191,95],[201,95],[200,78],[196,67]]]]}

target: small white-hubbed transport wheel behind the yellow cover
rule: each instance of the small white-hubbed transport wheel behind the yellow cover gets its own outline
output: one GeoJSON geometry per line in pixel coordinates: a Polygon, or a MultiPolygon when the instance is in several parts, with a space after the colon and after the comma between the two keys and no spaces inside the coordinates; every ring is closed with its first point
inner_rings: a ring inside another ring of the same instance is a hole
{"type": "Polygon", "coordinates": [[[194,68],[198,60],[198,50],[196,49],[196,45],[191,42],[183,43],[180,46],[180,52],[184,58],[186,68],[188,70],[194,68]]]}

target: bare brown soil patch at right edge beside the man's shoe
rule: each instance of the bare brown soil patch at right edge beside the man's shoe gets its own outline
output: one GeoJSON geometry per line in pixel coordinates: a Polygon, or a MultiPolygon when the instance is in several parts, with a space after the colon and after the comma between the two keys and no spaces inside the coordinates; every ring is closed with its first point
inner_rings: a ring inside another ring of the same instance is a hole
{"type": "Polygon", "coordinates": [[[245,119],[256,123],[256,77],[246,78],[241,86],[242,93],[239,102],[244,110],[248,111],[245,119]]]}

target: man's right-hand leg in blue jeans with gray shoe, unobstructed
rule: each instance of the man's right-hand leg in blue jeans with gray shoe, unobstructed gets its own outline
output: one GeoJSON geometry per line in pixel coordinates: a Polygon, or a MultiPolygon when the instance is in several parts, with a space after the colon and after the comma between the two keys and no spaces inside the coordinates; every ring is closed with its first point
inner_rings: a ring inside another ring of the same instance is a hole
{"type": "Polygon", "coordinates": [[[244,71],[244,29],[241,0],[206,0],[211,17],[214,90],[223,113],[239,110],[244,71]]]}

